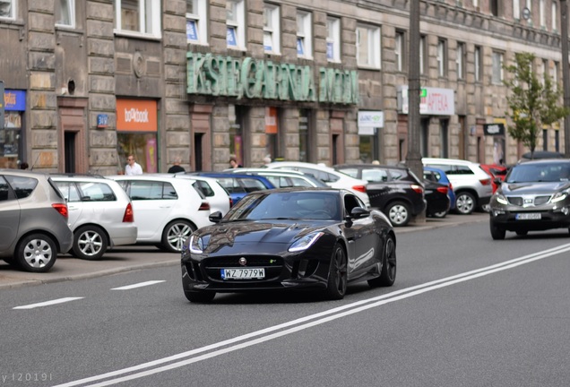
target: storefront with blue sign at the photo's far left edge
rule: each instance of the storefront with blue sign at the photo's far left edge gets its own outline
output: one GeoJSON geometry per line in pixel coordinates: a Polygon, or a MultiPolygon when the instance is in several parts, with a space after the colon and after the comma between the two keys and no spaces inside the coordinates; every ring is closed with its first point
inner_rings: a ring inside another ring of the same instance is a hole
{"type": "Polygon", "coordinates": [[[30,167],[33,160],[25,159],[23,116],[26,91],[4,90],[4,127],[0,128],[0,168],[19,168],[22,162],[30,167]]]}

